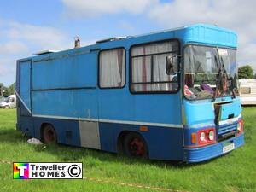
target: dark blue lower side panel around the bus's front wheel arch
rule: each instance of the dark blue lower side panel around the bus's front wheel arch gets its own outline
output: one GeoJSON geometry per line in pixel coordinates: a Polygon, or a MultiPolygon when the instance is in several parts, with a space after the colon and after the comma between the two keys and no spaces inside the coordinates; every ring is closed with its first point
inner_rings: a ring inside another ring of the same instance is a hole
{"type": "Polygon", "coordinates": [[[117,152],[117,138],[121,131],[137,131],[148,145],[149,159],[183,160],[183,130],[148,126],[148,131],[138,131],[139,125],[100,123],[102,150],[117,152]]]}

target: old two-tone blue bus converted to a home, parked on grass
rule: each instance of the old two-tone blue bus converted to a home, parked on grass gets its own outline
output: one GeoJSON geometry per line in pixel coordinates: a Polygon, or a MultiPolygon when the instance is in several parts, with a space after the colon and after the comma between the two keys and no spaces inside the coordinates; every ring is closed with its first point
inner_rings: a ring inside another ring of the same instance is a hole
{"type": "Polygon", "coordinates": [[[44,143],[200,162],[244,144],[235,32],[196,24],[17,61],[17,130],[44,143]]]}

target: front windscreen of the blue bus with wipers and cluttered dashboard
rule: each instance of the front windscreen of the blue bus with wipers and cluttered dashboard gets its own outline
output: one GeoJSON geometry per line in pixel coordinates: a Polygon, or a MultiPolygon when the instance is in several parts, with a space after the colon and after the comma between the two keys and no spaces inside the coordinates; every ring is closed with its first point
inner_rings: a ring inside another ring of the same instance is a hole
{"type": "Polygon", "coordinates": [[[236,96],[236,50],[189,45],[184,50],[184,96],[215,99],[236,96]]]}

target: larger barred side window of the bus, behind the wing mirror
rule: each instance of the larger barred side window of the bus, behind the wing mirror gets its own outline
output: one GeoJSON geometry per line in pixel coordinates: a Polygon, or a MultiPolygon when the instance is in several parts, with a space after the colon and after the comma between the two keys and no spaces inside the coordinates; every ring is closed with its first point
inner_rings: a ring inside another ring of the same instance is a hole
{"type": "Polygon", "coordinates": [[[178,89],[177,73],[166,73],[166,58],[177,54],[177,41],[133,47],[131,49],[131,92],[176,91],[178,89]]]}

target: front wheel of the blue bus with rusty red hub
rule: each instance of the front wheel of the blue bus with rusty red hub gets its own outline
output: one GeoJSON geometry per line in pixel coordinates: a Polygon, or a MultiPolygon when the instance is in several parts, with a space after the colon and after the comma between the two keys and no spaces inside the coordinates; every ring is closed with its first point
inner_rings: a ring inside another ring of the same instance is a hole
{"type": "Polygon", "coordinates": [[[130,132],[125,136],[123,150],[124,154],[131,157],[148,158],[147,143],[144,138],[136,132],[130,132]]]}

